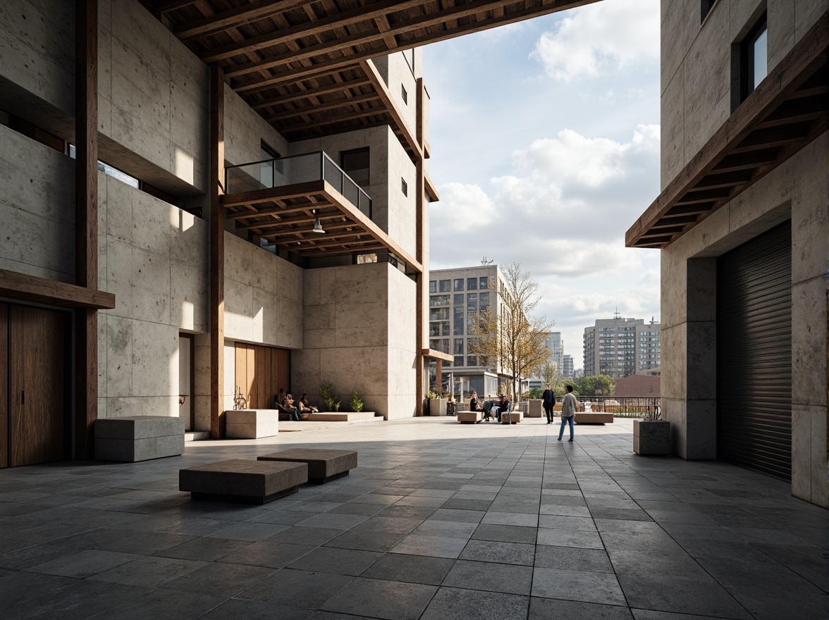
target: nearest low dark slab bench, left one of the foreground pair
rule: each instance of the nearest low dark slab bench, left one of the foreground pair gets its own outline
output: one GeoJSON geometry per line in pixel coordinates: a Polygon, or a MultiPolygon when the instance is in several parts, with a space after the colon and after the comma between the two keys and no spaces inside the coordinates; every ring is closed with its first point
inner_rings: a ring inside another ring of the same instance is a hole
{"type": "Polygon", "coordinates": [[[179,491],[191,492],[194,500],[239,501],[265,504],[295,493],[308,482],[305,463],[230,461],[180,469],[179,491]]]}

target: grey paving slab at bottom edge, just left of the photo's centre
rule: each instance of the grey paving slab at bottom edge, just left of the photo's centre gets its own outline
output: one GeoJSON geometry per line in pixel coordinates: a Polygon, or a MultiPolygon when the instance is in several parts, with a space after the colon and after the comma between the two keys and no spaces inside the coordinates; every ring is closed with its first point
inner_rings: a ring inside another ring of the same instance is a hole
{"type": "Polygon", "coordinates": [[[388,620],[416,620],[436,586],[358,577],[329,599],[326,610],[388,620]]]}

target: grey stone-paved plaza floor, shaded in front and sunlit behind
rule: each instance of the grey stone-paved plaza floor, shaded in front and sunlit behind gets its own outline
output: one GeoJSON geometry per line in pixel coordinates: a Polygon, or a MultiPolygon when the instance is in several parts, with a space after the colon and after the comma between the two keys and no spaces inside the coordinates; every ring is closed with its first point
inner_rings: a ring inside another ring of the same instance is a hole
{"type": "Polygon", "coordinates": [[[0,618],[829,618],[827,511],[639,457],[632,430],[419,418],[0,470],[0,618]],[[177,490],[182,467],[283,446],[359,466],[264,506],[177,490]]]}

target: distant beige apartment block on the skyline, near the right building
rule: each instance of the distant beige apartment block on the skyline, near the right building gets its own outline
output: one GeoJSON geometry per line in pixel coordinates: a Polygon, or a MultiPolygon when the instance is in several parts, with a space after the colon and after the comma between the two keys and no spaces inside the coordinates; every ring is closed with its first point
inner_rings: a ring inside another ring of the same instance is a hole
{"type": "Polygon", "coordinates": [[[584,328],[584,375],[621,379],[659,366],[660,324],[641,318],[600,318],[584,328]]]}

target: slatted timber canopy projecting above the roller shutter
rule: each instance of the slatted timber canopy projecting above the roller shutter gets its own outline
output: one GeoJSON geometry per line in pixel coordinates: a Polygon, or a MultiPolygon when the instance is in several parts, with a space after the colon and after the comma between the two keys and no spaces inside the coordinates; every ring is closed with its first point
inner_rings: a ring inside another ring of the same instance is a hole
{"type": "Polygon", "coordinates": [[[773,68],[625,235],[664,248],[829,128],[829,12],[773,68]]]}

